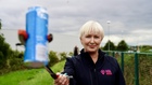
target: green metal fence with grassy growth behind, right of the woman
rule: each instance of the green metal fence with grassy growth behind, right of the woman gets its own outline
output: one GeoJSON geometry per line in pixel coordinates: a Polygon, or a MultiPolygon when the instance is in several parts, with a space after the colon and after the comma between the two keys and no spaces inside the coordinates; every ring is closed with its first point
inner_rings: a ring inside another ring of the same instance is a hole
{"type": "Polygon", "coordinates": [[[152,84],[152,53],[106,52],[115,57],[124,73],[126,85],[152,84]]]}

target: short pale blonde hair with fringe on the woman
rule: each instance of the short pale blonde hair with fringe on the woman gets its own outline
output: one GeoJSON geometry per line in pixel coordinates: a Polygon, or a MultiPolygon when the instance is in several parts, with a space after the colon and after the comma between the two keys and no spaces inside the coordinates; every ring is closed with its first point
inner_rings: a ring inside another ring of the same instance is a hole
{"type": "Polygon", "coordinates": [[[102,26],[94,20],[89,20],[86,24],[84,24],[79,30],[79,38],[81,38],[84,34],[88,34],[91,31],[96,32],[96,33],[100,33],[101,34],[101,39],[104,38],[104,31],[102,26]]]}

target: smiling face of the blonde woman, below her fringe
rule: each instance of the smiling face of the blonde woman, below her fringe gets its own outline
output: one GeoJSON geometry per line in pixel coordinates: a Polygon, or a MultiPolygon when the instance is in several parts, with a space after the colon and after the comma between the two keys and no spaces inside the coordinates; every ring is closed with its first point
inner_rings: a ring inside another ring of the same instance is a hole
{"type": "Polygon", "coordinates": [[[96,53],[98,52],[101,43],[101,34],[90,32],[80,37],[81,44],[84,45],[85,52],[96,53]]]}

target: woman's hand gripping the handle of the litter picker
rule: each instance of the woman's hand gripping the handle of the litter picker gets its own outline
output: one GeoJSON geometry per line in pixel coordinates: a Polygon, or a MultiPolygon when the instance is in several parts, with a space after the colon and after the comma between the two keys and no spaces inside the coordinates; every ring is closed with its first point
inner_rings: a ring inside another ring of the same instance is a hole
{"type": "Polygon", "coordinates": [[[69,79],[66,74],[56,73],[59,77],[54,80],[54,85],[69,85],[69,79]]]}

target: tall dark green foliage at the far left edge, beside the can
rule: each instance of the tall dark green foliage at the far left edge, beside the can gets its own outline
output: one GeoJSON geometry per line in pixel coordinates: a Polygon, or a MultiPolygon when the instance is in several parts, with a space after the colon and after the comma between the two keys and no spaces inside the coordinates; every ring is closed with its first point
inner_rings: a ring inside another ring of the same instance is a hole
{"type": "MultiPolygon", "coordinates": [[[[1,26],[0,20],[0,30],[1,26]]],[[[20,69],[23,63],[22,59],[23,53],[12,51],[3,33],[0,32],[0,74],[20,69]]]]}

